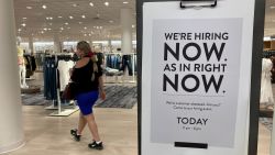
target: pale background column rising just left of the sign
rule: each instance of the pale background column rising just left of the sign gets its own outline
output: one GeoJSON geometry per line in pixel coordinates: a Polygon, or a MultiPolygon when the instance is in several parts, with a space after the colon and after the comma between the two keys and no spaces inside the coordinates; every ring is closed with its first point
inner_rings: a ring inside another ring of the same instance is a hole
{"type": "Polygon", "coordinates": [[[132,13],[130,9],[121,9],[120,13],[122,25],[121,52],[129,54],[132,53],[132,13]]]}

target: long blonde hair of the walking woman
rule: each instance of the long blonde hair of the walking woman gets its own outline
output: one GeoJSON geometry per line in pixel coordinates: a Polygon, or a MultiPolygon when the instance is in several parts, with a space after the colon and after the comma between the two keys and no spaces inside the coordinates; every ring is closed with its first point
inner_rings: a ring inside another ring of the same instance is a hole
{"type": "Polygon", "coordinates": [[[77,49],[82,51],[84,52],[84,56],[90,56],[91,60],[92,60],[92,66],[94,66],[94,73],[91,76],[91,80],[95,80],[95,73],[98,73],[98,58],[96,54],[92,54],[91,52],[91,47],[89,45],[89,43],[87,43],[86,41],[80,41],[77,43],[76,46],[77,49]]]}

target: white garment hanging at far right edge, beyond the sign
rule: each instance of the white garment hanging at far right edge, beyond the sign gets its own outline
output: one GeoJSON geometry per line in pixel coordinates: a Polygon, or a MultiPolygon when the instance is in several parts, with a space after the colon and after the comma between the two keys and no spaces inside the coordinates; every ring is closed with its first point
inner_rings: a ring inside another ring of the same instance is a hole
{"type": "Polygon", "coordinates": [[[273,104],[273,91],[271,82],[271,70],[273,63],[268,58],[262,60],[262,79],[261,79],[261,103],[273,104]]]}

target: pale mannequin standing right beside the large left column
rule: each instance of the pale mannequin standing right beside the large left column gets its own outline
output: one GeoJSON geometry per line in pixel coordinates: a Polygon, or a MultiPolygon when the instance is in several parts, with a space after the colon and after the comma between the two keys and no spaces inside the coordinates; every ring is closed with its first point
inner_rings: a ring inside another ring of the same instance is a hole
{"type": "Polygon", "coordinates": [[[20,86],[23,89],[28,89],[29,86],[25,84],[25,62],[24,62],[24,52],[20,47],[21,37],[18,37],[18,65],[19,65],[19,77],[20,86]]]}

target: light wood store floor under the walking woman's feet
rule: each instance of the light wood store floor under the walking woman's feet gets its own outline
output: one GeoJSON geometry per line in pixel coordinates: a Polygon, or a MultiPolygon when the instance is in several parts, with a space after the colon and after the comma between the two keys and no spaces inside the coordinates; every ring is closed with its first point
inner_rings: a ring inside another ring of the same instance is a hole
{"type": "MultiPolygon", "coordinates": [[[[76,128],[79,111],[69,117],[48,117],[51,112],[43,106],[23,106],[25,145],[4,155],[138,155],[136,104],[132,109],[95,108],[103,151],[88,148],[88,128],[80,142],[72,139],[69,130],[76,128]]],[[[258,155],[270,155],[270,142],[271,131],[260,123],[258,155]]]]}

